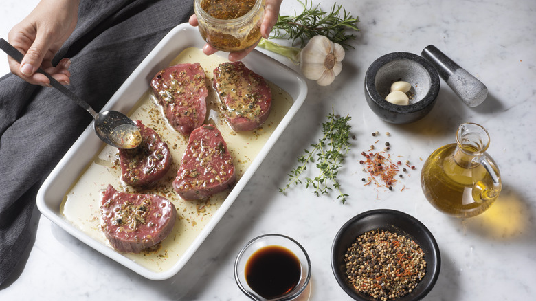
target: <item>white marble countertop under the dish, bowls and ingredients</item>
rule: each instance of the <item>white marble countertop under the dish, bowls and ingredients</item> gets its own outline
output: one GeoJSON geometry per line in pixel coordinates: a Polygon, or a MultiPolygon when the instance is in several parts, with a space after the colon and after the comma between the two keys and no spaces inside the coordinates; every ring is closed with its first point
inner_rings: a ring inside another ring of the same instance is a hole
{"type": "MultiPolygon", "coordinates": [[[[320,1],[315,1],[319,3],[320,1]]],[[[2,0],[1,34],[7,35],[36,1],[2,0]],[[24,3],[23,3],[24,2],[24,3]],[[20,17],[20,18],[19,18],[20,17]]],[[[328,9],[333,1],[322,1],[328,9]]],[[[425,300],[533,300],[536,296],[536,2],[516,1],[337,1],[359,16],[361,32],[346,52],[333,85],[309,82],[309,96],[252,181],[239,195],[189,263],[169,280],[138,276],[87,247],[38,212],[36,236],[27,263],[13,282],[0,290],[1,300],[246,300],[234,282],[234,258],[243,244],[260,234],[287,234],[302,243],[313,266],[311,300],[348,300],[330,265],[331,242],[355,214],[392,208],[415,216],[436,237],[441,273],[425,300]],[[482,80],[487,100],[469,108],[441,81],[436,107],[408,125],[382,122],[368,108],[364,74],[375,58],[389,52],[420,54],[436,45],[482,80]],[[287,196],[278,188],[295,165],[295,157],[317,141],[320,124],[334,108],[350,114],[353,148],[340,172],[350,195],[345,205],[333,197],[315,197],[299,187],[287,196]],[[502,172],[498,201],[473,219],[441,214],[425,200],[419,172],[429,153],[454,142],[462,122],[477,122],[491,135],[488,153],[502,172]],[[416,170],[394,192],[364,186],[359,153],[379,131],[391,153],[409,159],[416,170]],[[390,137],[384,133],[389,131],[390,137]]],[[[282,13],[300,11],[285,0],[282,13]]],[[[286,60],[280,58],[285,63],[286,60]]],[[[1,62],[2,73],[7,64],[1,62]]]]}

